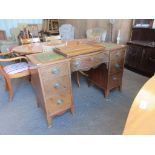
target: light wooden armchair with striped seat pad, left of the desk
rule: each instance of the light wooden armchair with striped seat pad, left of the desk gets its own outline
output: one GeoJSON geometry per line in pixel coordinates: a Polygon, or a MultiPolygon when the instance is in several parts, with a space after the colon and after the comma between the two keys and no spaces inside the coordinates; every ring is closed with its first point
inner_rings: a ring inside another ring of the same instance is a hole
{"type": "MultiPolygon", "coordinates": [[[[6,55],[9,55],[10,53],[11,52],[0,53],[0,56],[6,56],[6,55]]],[[[21,59],[27,60],[27,58],[23,56],[15,57],[15,58],[7,58],[7,59],[0,58],[0,63],[1,62],[12,62],[12,61],[21,60],[21,59]]],[[[0,75],[3,76],[5,79],[6,91],[9,91],[9,94],[10,94],[9,101],[12,101],[13,88],[12,88],[11,79],[26,77],[30,75],[30,72],[28,69],[28,63],[17,62],[17,63],[9,64],[6,66],[2,66],[0,64],[0,75]]]]}

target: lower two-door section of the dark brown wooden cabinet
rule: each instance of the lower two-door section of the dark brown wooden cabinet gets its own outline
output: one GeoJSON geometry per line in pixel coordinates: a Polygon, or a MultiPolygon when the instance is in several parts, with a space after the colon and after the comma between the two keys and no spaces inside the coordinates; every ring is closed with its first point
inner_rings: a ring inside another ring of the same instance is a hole
{"type": "Polygon", "coordinates": [[[155,47],[129,44],[125,66],[146,76],[155,73],[155,47]]]}

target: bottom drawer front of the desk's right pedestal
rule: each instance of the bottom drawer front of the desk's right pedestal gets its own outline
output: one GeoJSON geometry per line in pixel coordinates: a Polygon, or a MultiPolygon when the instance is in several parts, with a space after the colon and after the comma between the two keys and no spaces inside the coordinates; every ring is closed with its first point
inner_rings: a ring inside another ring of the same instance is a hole
{"type": "Polygon", "coordinates": [[[122,81],[122,73],[110,75],[109,79],[110,89],[120,86],[121,81],[122,81]]]}

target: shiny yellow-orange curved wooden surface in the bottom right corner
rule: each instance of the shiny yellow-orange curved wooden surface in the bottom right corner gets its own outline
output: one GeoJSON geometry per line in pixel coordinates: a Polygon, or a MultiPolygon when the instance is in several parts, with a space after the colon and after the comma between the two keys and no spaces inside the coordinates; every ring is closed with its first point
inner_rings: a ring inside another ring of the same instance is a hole
{"type": "Polygon", "coordinates": [[[155,75],[141,88],[130,108],[124,135],[155,134],[155,75]]]}

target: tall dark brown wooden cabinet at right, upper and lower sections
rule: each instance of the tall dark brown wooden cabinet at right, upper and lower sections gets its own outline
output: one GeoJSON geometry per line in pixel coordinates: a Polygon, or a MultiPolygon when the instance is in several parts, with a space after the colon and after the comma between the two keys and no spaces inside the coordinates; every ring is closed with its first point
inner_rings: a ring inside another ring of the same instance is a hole
{"type": "Polygon", "coordinates": [[[127,45],[125,66],[143,75],[152,76],[155,72],[155,29],[150,26],[134,26],[127,45]]]}

